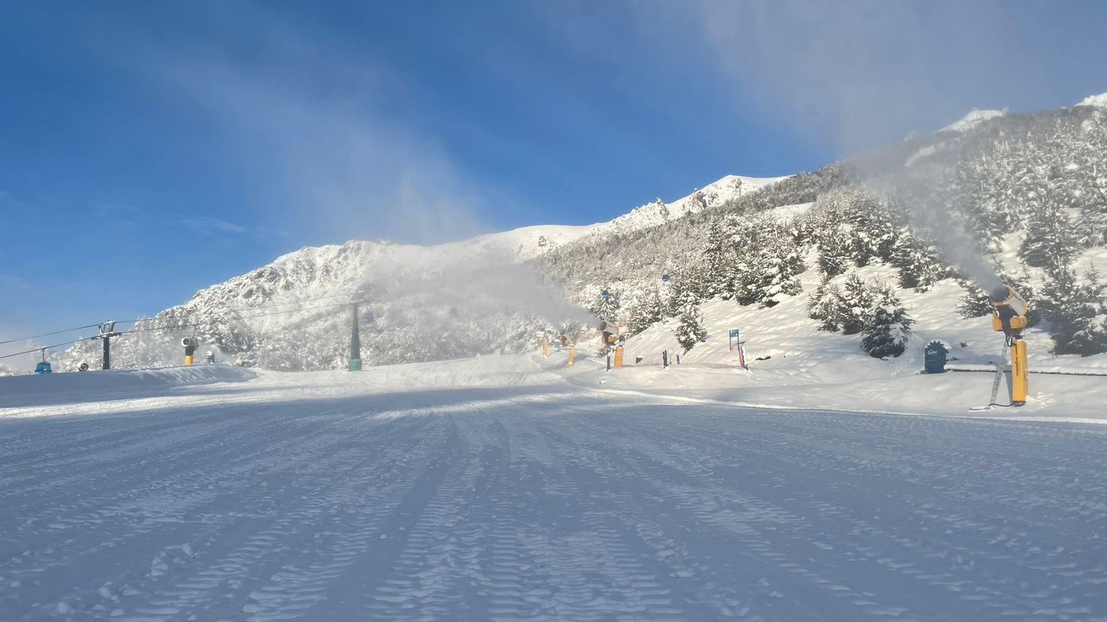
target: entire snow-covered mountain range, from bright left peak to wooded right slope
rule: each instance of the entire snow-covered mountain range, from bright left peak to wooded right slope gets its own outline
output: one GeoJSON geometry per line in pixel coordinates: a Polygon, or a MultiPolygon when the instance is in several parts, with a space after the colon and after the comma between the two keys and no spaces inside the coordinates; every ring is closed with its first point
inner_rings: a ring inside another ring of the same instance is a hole
{"type": "MultiPolygon", "coordinates": [[[[536,330],[593,317],[631,333],[669,326],[695,336],[695,326],[728,321],[721,305],[743,308],[746,323],[783,322],[816,340],[841,340],[832,333],[846,322],[849,334],[853,320],[868,330],[873,309],[945,331],[980,322],[986,299],[977,284],[996,279],[1036,297],[1046,320],[1032,329],[1039,352],[1105,352],[1107,290],[1089,271],[1107,260],[1103,100],[1032,114],[973,111],[813,173],[728,176],[608,222],[433,247],[304,248],[157,314],[147,326],[188,328],[124,335],[113,359],[177,362],[180,336],[195,335],[265,367],[340,367],[355,291],[369,301],[359,321],[370,364],[518,352],[532,348],[536,330]],[[954,291],[963,299],[949,298],[954,291]],[[844,308],[858,317],[836,317],[844,308]],[[937,309],[960,315],[919,318],[937,309]],[[697,320],[703,312],[715,318],[697,320]]],[[[884,328],[902,336],[910,325],[884,328]]],[[[865,338],[872,343],[863,333],[846,341],[865,338]]],[[[55,360],[71,367],[95,360],[94,349],[83,343],[55,360]]]]}

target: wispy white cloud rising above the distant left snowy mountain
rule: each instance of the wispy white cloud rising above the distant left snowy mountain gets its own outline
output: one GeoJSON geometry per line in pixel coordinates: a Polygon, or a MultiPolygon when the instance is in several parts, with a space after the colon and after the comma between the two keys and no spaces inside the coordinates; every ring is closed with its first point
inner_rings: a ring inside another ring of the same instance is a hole
{"type": "Polygon", "coordinates": [[[250,37],[261,52],[248,60],[148,43],[135,46],[149,53],[120,60],[210,120],[223,155],[237,165],[228,175],[251,188],[257,225],[332,241],[436,242],[488,230],[480,215],[489,190],[467,183],[432,136],[390,113],[406,106],[400,77],[271,13],[257,18],[250,37]]]}

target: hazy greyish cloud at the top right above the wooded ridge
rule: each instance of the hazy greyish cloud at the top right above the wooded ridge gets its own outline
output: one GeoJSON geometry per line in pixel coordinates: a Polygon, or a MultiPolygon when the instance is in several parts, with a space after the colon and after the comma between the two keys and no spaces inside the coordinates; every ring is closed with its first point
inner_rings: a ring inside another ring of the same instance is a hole
{"type": "Polygon", "coordinates": [[[766,118],[845,155],[932,131],[972,106],[1003,107],[1051,87],[1002,2],[701,0],[635,4],[670,37],[704,48],[708,74],[766,118]],[[674,37],[677,24],[699,39],[674,37]],[[1022,97],[1021,97],[1022,95],[1022,97]]]}

